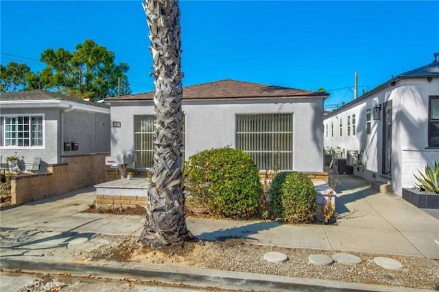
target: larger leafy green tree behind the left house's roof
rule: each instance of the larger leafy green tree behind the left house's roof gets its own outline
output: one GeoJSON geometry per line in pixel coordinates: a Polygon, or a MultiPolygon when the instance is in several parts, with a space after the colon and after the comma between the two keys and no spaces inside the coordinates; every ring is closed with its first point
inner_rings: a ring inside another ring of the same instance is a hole
{"type": "Polygon", "coordinates": [[[107,96],[130,94],[128,64],[115,64],[115,53],[93,40],[77,44],[70,53],[62,48],[47,49],[41,62],[47,67],[41,72],[41,83],[63,94],[100,100],[107,96]],[[120,83],[120,90],[118,85],[120,83]]]}

